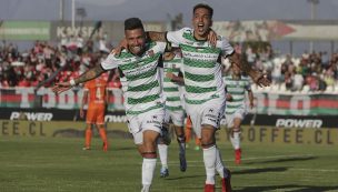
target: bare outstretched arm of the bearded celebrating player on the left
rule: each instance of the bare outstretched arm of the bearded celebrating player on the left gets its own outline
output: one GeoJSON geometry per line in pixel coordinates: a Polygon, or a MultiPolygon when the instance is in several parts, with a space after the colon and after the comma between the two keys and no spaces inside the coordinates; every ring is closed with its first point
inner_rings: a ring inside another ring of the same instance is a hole
{"type": "Polygon", "coordinates": [[[69,89],[71,89],[72,87],[92,80],[97,77],[99,77],[100,74],[102,74],[105,72],[105,70],[102,69],[101,64],[96,65],[95,68],[90,69],[89,71],[84,72],[83,74],[81,74],[79,78],[77,79],[71,79],[70,81],[67,82],[59,82],[56,83],[54,87],[52,87],[52,91],[57,94],[67,91],[69,89]]]}

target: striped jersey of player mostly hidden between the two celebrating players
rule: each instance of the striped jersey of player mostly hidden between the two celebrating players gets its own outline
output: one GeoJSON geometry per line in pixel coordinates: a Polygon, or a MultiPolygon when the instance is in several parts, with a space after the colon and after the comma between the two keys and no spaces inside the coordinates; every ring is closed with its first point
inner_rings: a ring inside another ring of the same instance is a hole
{"type": "Polygon", "coordinates": [[[183,110],[181,103],[182,95],[182,85],[179,85],[177,82],[172,82],[167,78],[167,73],[171,72],[175,75],[178,75],[181,71],[182,58],[179,54],[176,54],[175,58],[170,61],[163,60],[165,69],[165,82],[163,82],[163,94],[166,98],[166,109],[170,111],[183,110]]]}

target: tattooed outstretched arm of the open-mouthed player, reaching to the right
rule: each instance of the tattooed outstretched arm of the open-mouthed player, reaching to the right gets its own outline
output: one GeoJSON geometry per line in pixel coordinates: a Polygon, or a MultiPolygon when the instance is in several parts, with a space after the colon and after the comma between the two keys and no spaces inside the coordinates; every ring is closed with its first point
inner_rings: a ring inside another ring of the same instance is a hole
{"type": "Polygon", "coordinates": [[[254,82],[257,83],[259,87],[270,85],[271,82],[266,78],[266,74],[254,69],[248,62],[241,61],[240,55],[238,53],[231,54],[229,59],[231,63],[237,64],[241,71],[249,74],[254,82]]]}

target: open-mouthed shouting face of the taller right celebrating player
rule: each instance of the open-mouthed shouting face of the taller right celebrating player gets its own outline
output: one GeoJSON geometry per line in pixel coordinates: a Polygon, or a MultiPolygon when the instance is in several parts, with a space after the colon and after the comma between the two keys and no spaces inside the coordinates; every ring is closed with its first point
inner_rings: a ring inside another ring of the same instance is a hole
{"type": "Polygon", "coordinates": [[[209,29],[212,26],[211,16],[208,9],[198,8],[193,12],[192,18],[193,36],[198,40],[206,40],[209,29]]]}

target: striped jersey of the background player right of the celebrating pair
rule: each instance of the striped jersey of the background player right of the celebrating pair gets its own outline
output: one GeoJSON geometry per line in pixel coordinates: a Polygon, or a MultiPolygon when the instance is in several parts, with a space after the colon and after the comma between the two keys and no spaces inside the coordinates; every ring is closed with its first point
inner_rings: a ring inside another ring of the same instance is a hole
{"type": "Polygon", "coordinates": [[[223,81],[227,93],[232,97],[231,101],[227,101],[226,114],[232,114],[240,108],[246,109],[246,91],[251,90],[250,79],[241,75],[239,80],[235,80],[232,75],[227,75],[223,81]]]}

